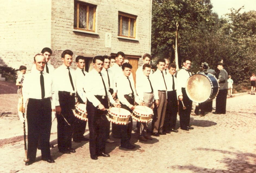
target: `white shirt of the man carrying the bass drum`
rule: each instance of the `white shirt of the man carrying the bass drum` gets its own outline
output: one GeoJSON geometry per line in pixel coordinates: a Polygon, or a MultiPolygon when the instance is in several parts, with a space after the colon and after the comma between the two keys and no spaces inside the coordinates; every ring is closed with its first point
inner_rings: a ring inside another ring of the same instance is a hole
{"type": "Polygon", "coordinates": [[[191,73],[182,67],[177,73],[177,96],[182,95],[181,88],[186,88],[186,83],[191,73]]]}

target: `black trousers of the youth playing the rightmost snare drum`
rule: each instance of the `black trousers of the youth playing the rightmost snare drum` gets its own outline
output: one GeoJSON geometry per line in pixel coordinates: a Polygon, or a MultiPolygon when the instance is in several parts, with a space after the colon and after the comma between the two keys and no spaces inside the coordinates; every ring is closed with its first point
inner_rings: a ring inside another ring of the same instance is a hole
{"type": "MultiPolygon", "coordinates": [[[[129,97],[128,95],[124,95],[127,101],[134,105],[134,97],[129,97]]],[[[121,103],[121,108],[124,108],[132,113],[132,110],[127,106],[121,103]]],[[[121,146],[126,146],[128,143],[130,143],[131,134],[132,134],[132,118],[130,118],[131,122],[127,125],[118,125],[121,130],[121,146]]]]}

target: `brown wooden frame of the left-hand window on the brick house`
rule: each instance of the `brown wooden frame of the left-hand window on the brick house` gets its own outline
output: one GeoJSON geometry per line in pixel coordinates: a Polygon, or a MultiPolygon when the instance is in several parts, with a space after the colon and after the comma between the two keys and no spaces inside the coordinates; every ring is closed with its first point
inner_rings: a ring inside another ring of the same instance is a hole
{"type": "Polygon", "coordinates": [[[96,5],[89,4],[89,3],[86,3],[86,2],[76,1],[76,0],[74,1],[74,5],[75,5],[75,2],[77,3],[76,4],[77,5],[77,27],[74,27],[74,29],[75,30],[81,30],[81,31],[95,32],[96,5]],[[87,7],[86,29],[79,28],[79,5],[80,4],[84,4],[87,7]],[[93,30],[89,30],[89,7],[93,7],[93,30]]]}

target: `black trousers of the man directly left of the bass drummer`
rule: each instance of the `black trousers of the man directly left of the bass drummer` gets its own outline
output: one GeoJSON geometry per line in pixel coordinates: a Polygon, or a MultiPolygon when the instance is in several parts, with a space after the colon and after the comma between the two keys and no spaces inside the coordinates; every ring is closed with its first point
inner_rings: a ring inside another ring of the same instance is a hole
{"type": "Polygon", "coordinates": [[[167,107],[163,130],[175,129],[178,113],[178,100],[176,91],[167,91],[167,107]]]}

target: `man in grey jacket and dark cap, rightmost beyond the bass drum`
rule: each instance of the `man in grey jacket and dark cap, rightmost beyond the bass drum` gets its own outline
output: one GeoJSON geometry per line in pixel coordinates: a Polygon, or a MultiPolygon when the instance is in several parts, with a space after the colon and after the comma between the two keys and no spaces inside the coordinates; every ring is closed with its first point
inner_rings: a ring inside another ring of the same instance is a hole
{"type": "Polygon", "coordinates": [[[227,71],[224,69],[223,63],[218,63],[217,69],[220,71],[219,77],[218,77],[220,89],[216,97],[216,110],[215,112],[213,112],[213,114],[226,114],[228,75],[227,75],[227,71]]]}

